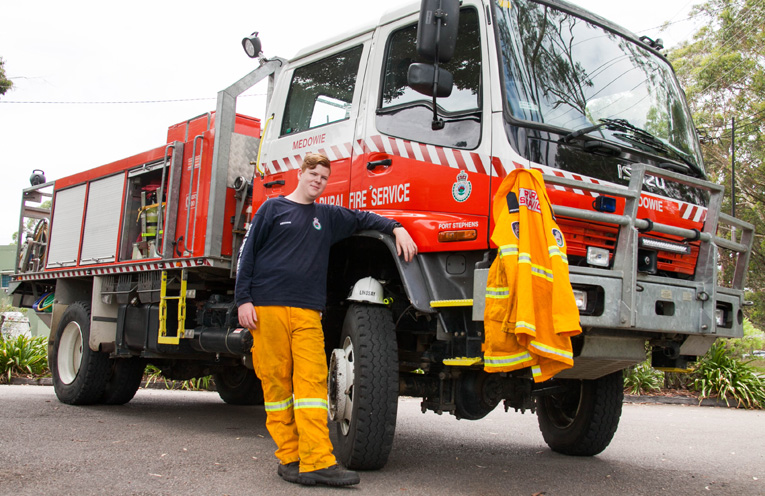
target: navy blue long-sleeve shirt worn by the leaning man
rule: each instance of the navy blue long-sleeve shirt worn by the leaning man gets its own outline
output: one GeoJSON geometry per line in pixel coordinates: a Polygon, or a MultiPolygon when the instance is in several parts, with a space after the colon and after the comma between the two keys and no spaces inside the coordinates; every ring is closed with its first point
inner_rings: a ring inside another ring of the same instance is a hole
{"type": "Polygon", "coordinates": [[[330,247],[356,231],[392,234],[396,222],[335,205],[269,199],[245,237],[236,276],[236,304],[323,310],[330,247]]]}

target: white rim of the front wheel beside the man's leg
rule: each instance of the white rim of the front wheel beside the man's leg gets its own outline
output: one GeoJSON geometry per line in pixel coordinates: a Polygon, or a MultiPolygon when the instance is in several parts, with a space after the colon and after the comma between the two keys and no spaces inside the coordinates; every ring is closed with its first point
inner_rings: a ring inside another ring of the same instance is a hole
{"type": "Polygon", "coordinates": [[[330,418],[340,424],[344,436],[348,435],[353,419],[353,367],[356,354],[353,341],[346,337],[343,347],[332,352],[329,373],[330,418]]]}

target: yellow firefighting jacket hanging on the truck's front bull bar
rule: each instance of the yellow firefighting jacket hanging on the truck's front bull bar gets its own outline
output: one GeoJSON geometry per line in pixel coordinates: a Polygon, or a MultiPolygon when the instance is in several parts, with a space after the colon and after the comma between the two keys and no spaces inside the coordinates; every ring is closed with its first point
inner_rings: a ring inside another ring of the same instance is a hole
{"type": "Polygon", "coordinates": [[[566,241],[542,174],[512,171],[494,196],[492,215],[498,253],[486,288],[484,370],[531,367],[542,382],[574,365],[571,336],[582,331],[566,241]]]}

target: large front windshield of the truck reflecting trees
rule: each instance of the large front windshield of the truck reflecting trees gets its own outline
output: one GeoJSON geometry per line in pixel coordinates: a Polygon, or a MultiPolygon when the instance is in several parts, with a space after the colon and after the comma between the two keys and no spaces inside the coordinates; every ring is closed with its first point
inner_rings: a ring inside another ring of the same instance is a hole
{"type": "MultiPolygon", "coordinates": [[[[623,119],[701,165],[683,93],[661,57],[595,24],[528,0],[500,0],[497,34],[505,108],[513,118],[574,131],[623,119]]],[[[656,153],[623,130],[590,133],[656,153]]],[[[671,158],[675,158],[671,157],[671,158]]]]}

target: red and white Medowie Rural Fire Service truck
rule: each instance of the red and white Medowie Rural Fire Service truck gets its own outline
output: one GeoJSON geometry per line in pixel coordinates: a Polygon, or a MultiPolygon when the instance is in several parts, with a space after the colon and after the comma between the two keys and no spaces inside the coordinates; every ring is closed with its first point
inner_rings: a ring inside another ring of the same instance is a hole
{"type": "Polygon", "coordinates": [[[419,247],[407,263],[363,231],[331,251],[329,414],[348,467],[386,463],[400,395],[467,420],[529,410],[551,449],[596,455],[619,422],[623,369],[647,357],[687,369],[742,336],[753,229],[721,212],[660,40],[561,0],[424,0],[290,60],[257,36],[243,44],[257,68],[214,112],[23,191],[19,228],[37,224],[11,290],[52,329],[62,402],[126,403],[147,363],[212,374],[227,403],[262,402],[237,254],[308,152],[332,162],[319,202],[395,219],[419,247]],[[264,80],[264,119],[237,114],[264,80]],[[574,366],[539,384],[482,361],[492,197],[516,168],[543,173],[583,329],[574,366]]]}

